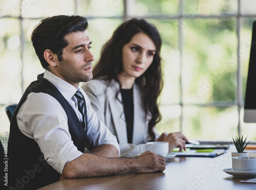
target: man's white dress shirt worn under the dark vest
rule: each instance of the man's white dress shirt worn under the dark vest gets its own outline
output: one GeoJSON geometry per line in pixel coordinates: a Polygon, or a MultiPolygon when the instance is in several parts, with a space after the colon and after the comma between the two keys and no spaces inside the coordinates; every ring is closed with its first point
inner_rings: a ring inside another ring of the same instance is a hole
{"type": "MultiPolygon", "coordinates": [[[[77,99],[74,97],[77,89],[48,70],[45,71],[44,78],[60,91],[75,110],[79,120],[82,121],[82,115],[77,107],[77,99]]],[[[79,90],[86,100],[88,149],[92,150],[99,145],[110,144],[119,151],[116,137],[100,122],[87,94],[83,89],[79,90]]],[[[59,102],[49,94],[30,93],[17,113],[17,124],[23,134],[36,141],[45,160],[60,174],[67,162],[83,154],[77,150],[71,140],[66,112],[59,102]]]]}

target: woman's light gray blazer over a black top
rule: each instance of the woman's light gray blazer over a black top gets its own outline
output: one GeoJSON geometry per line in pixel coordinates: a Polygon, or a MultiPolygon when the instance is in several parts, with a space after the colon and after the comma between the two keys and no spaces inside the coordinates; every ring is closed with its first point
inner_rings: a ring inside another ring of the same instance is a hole
{"type": "Polygon", "coordinates": [[[150,140],[148,135],[148,121],[150,116],[145,114],[141,101],[139,86],[133,86],[134,100],[134,126],[133,144],[127,143],[127,132],[122,96],[119,92],[119,84],[112,80],[110,84],[101,79],[93,79],[82,86],[87,93],[93,109],[100,120],[117,137],[121,156],[132,157],[140,154],[140,145],[150,140]]]}

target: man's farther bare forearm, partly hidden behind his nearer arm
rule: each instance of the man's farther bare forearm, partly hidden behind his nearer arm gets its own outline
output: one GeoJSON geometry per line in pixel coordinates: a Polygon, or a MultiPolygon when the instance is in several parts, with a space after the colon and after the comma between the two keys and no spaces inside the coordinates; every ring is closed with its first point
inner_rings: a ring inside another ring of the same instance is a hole
{"type": "Polygon", "coordinates": [[[119,152],[117,148],[113,145],[107,145],[107,144],[96,147],[91,151],[91,154],[96,154],[96,155],[108,157],[108,158],[119,157],[119,152]]]}

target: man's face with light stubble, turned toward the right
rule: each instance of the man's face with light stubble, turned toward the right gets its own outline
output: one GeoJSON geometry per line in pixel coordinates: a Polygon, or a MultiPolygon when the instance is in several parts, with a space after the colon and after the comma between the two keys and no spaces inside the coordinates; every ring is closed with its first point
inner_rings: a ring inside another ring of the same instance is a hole
{"type": "Polygon", "coordinates": [[[86,30],[67,34],[65,39],[68,46],[63,49],[62,61],[57,61],[52,73],[78,88],[79,82],[88,82],[93,78],[92,41],[86,30]]]}

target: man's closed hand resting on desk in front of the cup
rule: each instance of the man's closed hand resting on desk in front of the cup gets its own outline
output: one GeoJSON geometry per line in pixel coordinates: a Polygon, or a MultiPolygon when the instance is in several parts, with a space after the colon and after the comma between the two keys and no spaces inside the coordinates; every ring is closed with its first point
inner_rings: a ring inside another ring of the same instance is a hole
{"type": "Polygon", "coordinates": [[[165,170],[165,157],[146,151],[134,158],[137,163],[136,173],[151,173],[165,170]]]}

